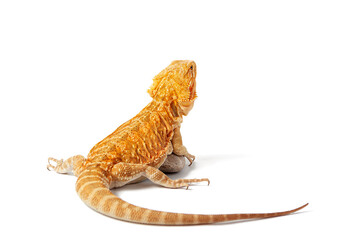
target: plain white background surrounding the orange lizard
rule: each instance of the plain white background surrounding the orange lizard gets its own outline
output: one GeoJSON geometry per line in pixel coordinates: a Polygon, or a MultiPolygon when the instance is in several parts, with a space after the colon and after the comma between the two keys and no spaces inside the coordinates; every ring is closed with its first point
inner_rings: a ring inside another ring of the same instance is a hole
{"type": "MultiPolygon", "coordinates": [[[[51,239],[359,239],[358,1],[1,1],[1,235],[51,239]],[[196,162],[114,191],[147,208],[272,212],[195,227],[131,224],[78,198],[47,158],[86,155],[149,101],[175,59],[198,65],[184,119],[196,162]]],[[[5,239],[3,236],[2,239],[5,239]]]]}

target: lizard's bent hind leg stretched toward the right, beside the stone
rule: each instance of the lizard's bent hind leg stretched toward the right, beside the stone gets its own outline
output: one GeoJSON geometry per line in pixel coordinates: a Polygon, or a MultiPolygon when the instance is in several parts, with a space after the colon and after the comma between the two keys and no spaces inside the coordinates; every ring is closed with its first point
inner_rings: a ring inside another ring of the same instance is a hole
{"type": "Polygon", "coordinates": [[[188,189],[191,183],[210,183],[209,179],[207,178],[172,180],[159,169],[142,164],[118,163],[114,165],[111,173],[115,181],[119,181],[125,184],[141,177],[146,177],[153,183],[168,188],[186,187],[186,189],[188,189]]]}

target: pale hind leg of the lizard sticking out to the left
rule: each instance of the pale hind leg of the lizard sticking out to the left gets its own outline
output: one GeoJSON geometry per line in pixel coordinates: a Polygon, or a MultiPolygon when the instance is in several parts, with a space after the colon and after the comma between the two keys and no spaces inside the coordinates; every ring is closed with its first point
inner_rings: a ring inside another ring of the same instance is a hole
{"type": "Polygon", "coordinates": [[[83,161],[85,161],[85,157],[81,155],[70,157],[65,161],[50,157],[48,159],[47,169],[49,171],[54,170],[57,173],[73,173],[74,169],[76,169],[83,161]],[[55,165],[53,165],[53,163],[55,163],[55,165]]]}

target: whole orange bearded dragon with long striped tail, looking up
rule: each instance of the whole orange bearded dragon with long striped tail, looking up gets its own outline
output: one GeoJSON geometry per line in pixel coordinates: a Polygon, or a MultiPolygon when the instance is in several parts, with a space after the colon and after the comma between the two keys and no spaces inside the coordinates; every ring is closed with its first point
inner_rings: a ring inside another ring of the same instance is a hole
{"type": "Polygon", "coordinates": [[[111,189],[149,179],[167,188],[188,188],[209,179],[169,178],[159,170],[168,156],[185,157],[190,165],[195,156],[183,145],[180,133],[183,116],[194,106],[197,67],[194,61],[176,60],[153,78],[148,89],[152,101],[140,113],[97,143],[87,157],[76,155],[66,161],[48,159],[48,170],[72,173],[76,192],[90,208],[104,215],[152,225],[195,225],[242,219],[268,218],[296,212],[239,214],[185,214],[142,208],[117,197],[111,189]]]}

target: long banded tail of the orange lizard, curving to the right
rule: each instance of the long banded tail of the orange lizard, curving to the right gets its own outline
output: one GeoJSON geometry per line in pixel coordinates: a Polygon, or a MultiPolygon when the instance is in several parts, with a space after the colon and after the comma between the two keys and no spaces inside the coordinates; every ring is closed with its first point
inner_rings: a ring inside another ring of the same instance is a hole
{"type": "Polygon", "coordinates": [[[99,168],[85,170],[76,182],[76,192],[92,209],[124,221],[154,225],[195,225],[235,221],[241,219],[269,218],[287,215],[306,207],[274,213],[250,214],[184,214],[162,212],[132,205],[118,198],[109,190],[109,180],[99,168]]]}

